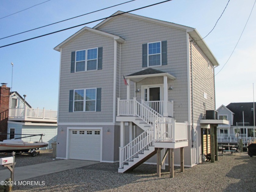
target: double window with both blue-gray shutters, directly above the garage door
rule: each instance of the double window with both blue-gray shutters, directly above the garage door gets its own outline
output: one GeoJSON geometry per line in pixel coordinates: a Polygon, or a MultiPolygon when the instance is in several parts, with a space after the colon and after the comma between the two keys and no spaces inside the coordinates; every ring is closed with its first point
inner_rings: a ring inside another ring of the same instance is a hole
{"type": "Polygon", "coordinates": [[[69,112],[101,111],[101,88],[69,91],[69,112]]]}

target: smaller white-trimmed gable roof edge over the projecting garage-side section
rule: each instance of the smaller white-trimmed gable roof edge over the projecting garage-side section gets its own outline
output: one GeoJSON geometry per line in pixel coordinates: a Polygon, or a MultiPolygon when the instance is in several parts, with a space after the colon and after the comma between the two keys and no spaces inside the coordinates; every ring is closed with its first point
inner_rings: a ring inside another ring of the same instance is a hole
{"type": "Polygon", "coordinates": [[[60,52],[62,47],[64,47],[66,44],[68,44],[69,42],[73,41],[76,37],[80,36],[81,34],[83,34],[86,31],[91,31],[93,33],[98,33],[98,34],[101,34],[101,35],[105,35],[107,37],[113,38],[114,40],[116,40],[119,43],[125,43],[125,39],[123,39],[122,37],[119,37],[117,35],[113,35],[113,34],[110,34],[110,33],[104,32],[104,31],[100,31],[100,30],[97,30],[97,29],[92,29],[90,27],[84,27],[84,28],[80,29],[79,31],[77,31],[72,36],[70,36],[69,38],[67,38],[65,41],[63,41],[62,43],[57,45],[53,49],[60,52]]]}

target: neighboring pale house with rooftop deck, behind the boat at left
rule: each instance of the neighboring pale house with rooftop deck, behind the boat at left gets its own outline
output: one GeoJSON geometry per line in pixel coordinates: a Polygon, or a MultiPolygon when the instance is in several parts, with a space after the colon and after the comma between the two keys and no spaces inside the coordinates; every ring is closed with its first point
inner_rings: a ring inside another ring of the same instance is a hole
{"type": "MultiPolygon", "coordinates": [[[[57,111],[32,108],[21,95],[14,91],[10,93],[9,118],[7,139],[24,137],[18,134],[44,134],[44,142],[49,145],[46,148],[51,149],[52,142],[57,140],[57,111]]],[[[22,138],[23,141],[39,141],[40,136],[22,138]]]]}

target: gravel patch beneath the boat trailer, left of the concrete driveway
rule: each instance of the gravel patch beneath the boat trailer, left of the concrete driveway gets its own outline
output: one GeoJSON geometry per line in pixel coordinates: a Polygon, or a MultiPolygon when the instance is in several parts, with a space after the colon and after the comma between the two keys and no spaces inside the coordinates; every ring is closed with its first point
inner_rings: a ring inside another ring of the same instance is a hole
{"type": "MultiPolygon", "coordinates": [[[[11,157],[12,155],[0,154],[0,158],[11,157]]],[[[38,163],[46,163],[51,161],[58,161],[61,159],[52,158],[52,150],[42,150],[35,157],[31,157],[29,154],[15,155],[15,167],[22,167],[27,165],[35,165],[38,163]]],[[[0,170],[6,169],[6,167],[0,166],[0,170]]]]}

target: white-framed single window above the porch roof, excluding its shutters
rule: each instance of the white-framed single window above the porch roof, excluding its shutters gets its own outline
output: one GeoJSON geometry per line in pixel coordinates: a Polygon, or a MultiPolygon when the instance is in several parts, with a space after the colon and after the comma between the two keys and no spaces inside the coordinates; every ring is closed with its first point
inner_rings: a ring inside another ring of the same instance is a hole
{"type": "Polygon", "coordinates": [[[161,42],[148,43],[148,66],[161,65],[161,42]]]}

